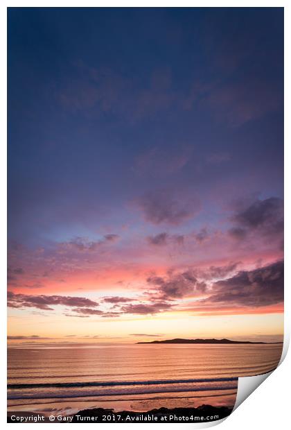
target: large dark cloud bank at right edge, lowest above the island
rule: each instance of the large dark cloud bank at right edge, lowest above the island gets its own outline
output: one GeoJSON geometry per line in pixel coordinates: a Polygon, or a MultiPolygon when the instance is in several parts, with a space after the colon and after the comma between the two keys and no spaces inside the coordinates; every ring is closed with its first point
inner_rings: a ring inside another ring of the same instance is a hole
{"type": "Polygon", "coordinates": [[[283,301],[283,261],[256,270],[242,270],[213,284],[205,302],[261,307],[283,301]]]}

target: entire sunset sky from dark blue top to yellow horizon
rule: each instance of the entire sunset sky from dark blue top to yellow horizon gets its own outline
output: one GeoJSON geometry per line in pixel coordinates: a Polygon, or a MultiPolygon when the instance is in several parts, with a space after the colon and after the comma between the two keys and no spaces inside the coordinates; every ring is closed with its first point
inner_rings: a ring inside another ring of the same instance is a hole
{"type": "Polygon", "coordinates": [[[8,8],[8,339],[283,334],[283,8],[8,8]]]}

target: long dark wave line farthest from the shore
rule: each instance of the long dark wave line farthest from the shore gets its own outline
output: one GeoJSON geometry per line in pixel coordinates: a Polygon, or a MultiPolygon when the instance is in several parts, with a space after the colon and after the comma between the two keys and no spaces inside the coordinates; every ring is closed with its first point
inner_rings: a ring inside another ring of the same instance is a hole
{"type": "Polygon", "coordinates": [[[133,386],[133,385],[164,385],[164,384],[191,384],[200,382],[238,381],[237,377],[204,378],[204,379],[154,379],[152,381],[93,381],[93,382],[44,382],[42,384],[8,384],[7,388],[85,388],[107,386],[133,386]]]}

